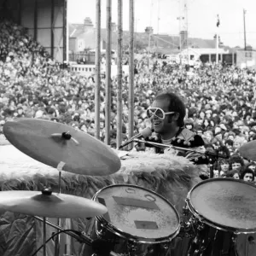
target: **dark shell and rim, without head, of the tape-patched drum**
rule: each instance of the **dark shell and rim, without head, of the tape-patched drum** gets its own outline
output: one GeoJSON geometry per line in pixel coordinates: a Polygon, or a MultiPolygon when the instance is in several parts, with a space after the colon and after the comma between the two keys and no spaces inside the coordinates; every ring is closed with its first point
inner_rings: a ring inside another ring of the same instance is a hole
{"type": "MultiPolygon", "coordinates": [[[[150,193],[151,195],[156,196],[156,198],[160,201],[166,201],[160,195],[157,195],[151,190],[143,189],[134,185],[127,185],[127,184],[119,184],[119,185],[112,185],[106,187],[108,188],[118,188],[118,187],[127,187],[131,189],[139,189],[145,191],[147,194],[150,193]]],[[[103,189],[106,189],[103,188],[103,189]]],[[[103,190],[102,189],[102,190],[103,190]]],[[[101,191],[98,191],[96,195],[93,196],[93,200],[97,200],[97,195],[101,194],[101,191]]],[[[170,202],[166,201],[166,204],[172,206],[170,202]]],[[[172,211],[175,209],[173,208],[172,211]]],[[[171,212],[171,211],[170,211],[171,212]]],[[[172,212],[173,213],[173,212],[172,212]]],[[[176,212],[177,214],[177,212],[176,212]]],[[[177,220],[179,223],[179,217],[177,214],[177,220]]],[[[103,218],[103,216],[97,216],[96,218],[91,218],[90,222],[86,226],[85,233],[90,236],[93,240],[96,238],[102,238],[105,241],[108,241],[111,244],[111,249],[114,253],[120,253],[124,255],[137,255],[137,256],[165,256],[169,254],[171,249],[171,242],[172,239],[177,236],[179,232],[180,225],[177,225],[177,229],[175,232],[171,233],[169,236],[160,237],[160,238],[148,238],[148,237],[141,237],[141,236],[134,236],[134,234],[125,233],[124,230],[119,230],[116,226],[108,222],[107,219],[103,218]]],[[[150,230],[148,230],[150,232],[150,230]]],[[[83,256],[89,256],[92,253],[91,247],[84,246],[83,256]]]]}

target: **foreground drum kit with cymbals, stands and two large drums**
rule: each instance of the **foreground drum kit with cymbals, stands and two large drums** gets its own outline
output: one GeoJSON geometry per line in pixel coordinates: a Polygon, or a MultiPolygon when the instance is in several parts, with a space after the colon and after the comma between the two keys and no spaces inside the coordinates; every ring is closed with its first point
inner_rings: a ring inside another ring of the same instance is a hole
{"type": "MultiPolygon", "coordinates": [[[[237,235],[256,232],[256,186],[252,183],[227,178],[198,183],[187,195],[183,209],[187,221],[181,221],[163,196],[136,185],[109,185],[91,200],[61,194],[62,171],[108,176],[121,166],[111,148],[83,131],[43,119],[22,118],[6,122],[3,133],[20,151],[59,172],[57,193],[47,187],[42,191],[0,192],[0,210],[31,215],[43,222],[43,245],[32,255],[43,249],[46,256],[47,225],[58,230],[55,256],[59,256],[61,232],[84,244],[84,256],[170,255],[172,241],[178,236],[193,238],[186,255],[213,255],[207,252],[211,229],[232,234],[236,252],[237,235]],[[54,224],[46,218],[89,218],[88,230],[65,230],[60,222],[54,224]]],[[[256,160],[254,144],[241,147],[241,154],[256,160]]]]}

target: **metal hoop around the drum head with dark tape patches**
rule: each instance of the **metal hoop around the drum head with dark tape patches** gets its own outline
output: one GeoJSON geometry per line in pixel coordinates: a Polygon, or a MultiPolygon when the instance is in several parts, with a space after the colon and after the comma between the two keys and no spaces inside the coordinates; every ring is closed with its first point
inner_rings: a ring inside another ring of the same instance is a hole
{"type": "Polygon", "coordinates": [[[129,233],[126,233],[125,231],[123,230],[120,230],[118,229],[117,227],[115,227],[113,224],[109,223],[102,215],[100,216],[96,216],[96,220],[98,220],[100,223],[104,224],[104,227],[113,232],[115,235],[117,236],[121,236],[125,239],[127,239],[128,237],[128,240],[130,241],[133,241],[133,242],[137,242],[137,243],[147,243],[147,244],[156,244],[156,243],[162,243],[162,242],[168,242],[168,241],[172,241],[172,239],[177,236],[177,234],[179,233],[179,230],[180,230],[180,218],[179,218],[179,215],[177,213],[177,210],[174,206],[172,206],[172,204],[166,200],[165,197],[163,197],[162,195],[159,195],[157,194],[156,192],[150,190],[150,189],[145,189],[145,188],[142,188],[142,187],[139,187],[137,185],[131,185],[131,184],[126,184],[126,183],[119,183],[119,184],[113,184],[113,185],[110,185],[110,186],[106,186],[102,189],[100,189],[99,191],[96,192],[95,195],[93,195],[92,197],[92,200],[93,201],[96,201],[96,198],[97,196],[102,192],[102,190],[104,189],[108,189],[108,188],[112,188],[112,187],[131,187],[131,188],[137,188],[137,189],[143,189],[143,190],[146,190],[158,197],[160,197],[162,200],[166,201],[166,203],[172,207],[173,211],[175,212],[176,214],[176,217],[177,217],[177,228],[176,230],[169,236],[165,236],[165,237],[160,237],[160,238],[145,238],[145,237],[141,237],[141,236],[133,236],[129,233]]]}

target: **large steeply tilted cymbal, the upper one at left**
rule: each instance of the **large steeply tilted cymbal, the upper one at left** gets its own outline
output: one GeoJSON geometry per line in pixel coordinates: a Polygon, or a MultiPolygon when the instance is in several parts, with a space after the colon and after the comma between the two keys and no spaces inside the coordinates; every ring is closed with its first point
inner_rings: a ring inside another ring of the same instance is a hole
{"type": "Polygon", "coordinates": [[[119,156],[108,145],[61,123],[15,119],[3,125],[3,133],[21,152],[63,171],[105,176],[119,171],[121,166],[119,156]]]}

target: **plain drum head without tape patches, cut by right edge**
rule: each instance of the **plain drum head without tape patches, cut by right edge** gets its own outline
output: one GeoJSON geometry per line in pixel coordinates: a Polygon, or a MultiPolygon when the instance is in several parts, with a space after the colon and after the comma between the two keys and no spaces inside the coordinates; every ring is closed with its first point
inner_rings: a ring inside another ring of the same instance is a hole
{"type": "Polygon", "coordinates": [[[207,224],[233,232],[256,231],[256,186],[251,183],[209,179],[190,190],[187,202],[207,224]]]}

